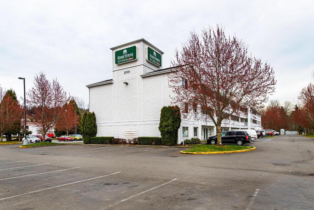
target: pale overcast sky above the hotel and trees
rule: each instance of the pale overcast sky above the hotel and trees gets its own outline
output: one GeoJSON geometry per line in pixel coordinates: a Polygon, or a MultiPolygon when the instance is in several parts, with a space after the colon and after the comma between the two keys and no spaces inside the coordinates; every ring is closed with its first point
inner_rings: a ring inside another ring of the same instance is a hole
{"type": "Polygon", "coordinates": [[[18,97],[40,71],[88,103],[85,85],[112,78],[109,48],[144,38],[170,66],[190,31],[221,24],[274,68],[270,99],[296,101],[313,81],[313,1],[0,0],[0,84],[18,97]]]}

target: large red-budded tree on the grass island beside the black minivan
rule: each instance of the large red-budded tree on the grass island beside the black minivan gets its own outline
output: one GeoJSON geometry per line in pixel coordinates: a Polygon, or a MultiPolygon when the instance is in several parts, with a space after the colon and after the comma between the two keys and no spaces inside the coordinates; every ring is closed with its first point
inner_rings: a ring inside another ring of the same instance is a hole
{"type": "Polygon", "coordinates": [[[240,116],[247,107],[258,110],[275,89],[270,65],[248,54],[242,40],[235,35],[226,37],[218,25],[216,30],[204,29],[201,38],[191,32],[171,65],[179,66],[169,75],[174,103],[183,113],[194,115],[191,110],[197,109],[199,116],[206,112],[216,126],[217,144],[221,144],[224,119],[240,116]]]}

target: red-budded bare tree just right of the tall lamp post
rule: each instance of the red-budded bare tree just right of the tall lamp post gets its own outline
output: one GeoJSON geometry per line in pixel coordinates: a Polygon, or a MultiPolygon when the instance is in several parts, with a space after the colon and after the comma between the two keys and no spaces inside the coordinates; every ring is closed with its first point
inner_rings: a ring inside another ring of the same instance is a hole
{"type": "Polygon", "coordinates": [[[58,120],[62,117],[63,105],[70,97],[63,90],[57,79],[50,82],[44,72],[34,77],[34,85],[27,94],[27,104],[34,109],[34,124],[38,132],[45,135],[52,132],[58,120]]]}

